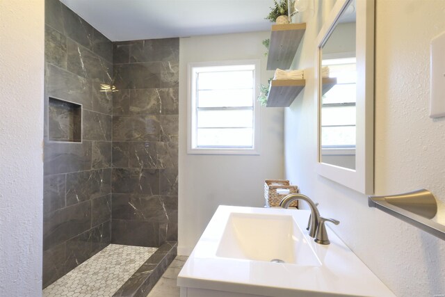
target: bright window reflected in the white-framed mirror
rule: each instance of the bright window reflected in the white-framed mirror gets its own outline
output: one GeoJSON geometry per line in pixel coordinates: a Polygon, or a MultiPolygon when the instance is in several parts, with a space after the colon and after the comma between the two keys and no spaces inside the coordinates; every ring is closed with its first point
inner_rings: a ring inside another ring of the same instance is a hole
{"type": "Polygon", "coordinates": [[[323,60],[330,77],[337,78],[322,98],[321,138],[323,154],[355,154],[355,102],[357,70],[355,58],[323,60]]]}

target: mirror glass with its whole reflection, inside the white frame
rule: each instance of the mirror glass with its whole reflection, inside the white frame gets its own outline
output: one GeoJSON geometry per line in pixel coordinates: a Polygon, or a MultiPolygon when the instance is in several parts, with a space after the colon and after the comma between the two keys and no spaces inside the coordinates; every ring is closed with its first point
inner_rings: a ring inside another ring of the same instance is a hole
{"type": "Polygon", "coordinates": [[[355,19],[355,1],[350,1],[321,47],[323,93],[320,159],[322,163],[352,170],[355,170],[357,140],[355,19]]]}

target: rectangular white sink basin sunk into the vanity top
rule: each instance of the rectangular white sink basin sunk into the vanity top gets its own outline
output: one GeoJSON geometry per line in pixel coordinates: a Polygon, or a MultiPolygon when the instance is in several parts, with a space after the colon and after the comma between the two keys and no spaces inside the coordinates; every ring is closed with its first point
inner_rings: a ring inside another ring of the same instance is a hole
{"type": "Polygon", "coordinates": [[[321,265],[300,226],[290,215],[230,214],[216,256],[302,266],[321,265]]]}

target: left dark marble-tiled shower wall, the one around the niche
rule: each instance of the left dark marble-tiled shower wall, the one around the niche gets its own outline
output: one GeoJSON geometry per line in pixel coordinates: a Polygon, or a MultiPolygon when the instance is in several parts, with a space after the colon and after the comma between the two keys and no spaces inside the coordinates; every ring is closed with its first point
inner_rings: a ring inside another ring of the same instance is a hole
{"type": "Polygon", "coordinates": [[[100,86],[113,82],[113,44],[60,1],[45,0],[44,56],[47,287],[111,242],[113,99],[100,86]],[[49,97],[82,105],[81,143],[49,141],[48,123],[72,129],[66,115],[49,109],[49,97]]]}

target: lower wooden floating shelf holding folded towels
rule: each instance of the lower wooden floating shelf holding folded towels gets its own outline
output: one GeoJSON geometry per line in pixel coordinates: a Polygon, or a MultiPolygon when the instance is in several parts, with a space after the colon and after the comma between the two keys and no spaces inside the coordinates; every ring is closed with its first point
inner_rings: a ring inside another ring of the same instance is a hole
{"type": "Polygon", "coordinates": [[[304,79],[274,79],[270,81],[267,107],[287,107],[305,88],[304,79]]]}

